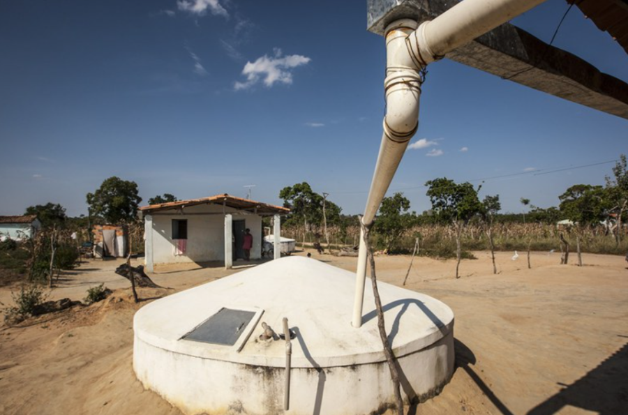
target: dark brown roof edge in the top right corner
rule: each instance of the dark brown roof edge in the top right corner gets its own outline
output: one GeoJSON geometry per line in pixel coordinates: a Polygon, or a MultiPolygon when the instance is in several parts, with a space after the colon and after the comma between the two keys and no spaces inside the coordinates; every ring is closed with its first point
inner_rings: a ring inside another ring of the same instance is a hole
{"type": "Polygon", "coordinates": [[[567,0],[575,3],[598,29],[607,31],[628,53],[628,0],[567,0]]]}

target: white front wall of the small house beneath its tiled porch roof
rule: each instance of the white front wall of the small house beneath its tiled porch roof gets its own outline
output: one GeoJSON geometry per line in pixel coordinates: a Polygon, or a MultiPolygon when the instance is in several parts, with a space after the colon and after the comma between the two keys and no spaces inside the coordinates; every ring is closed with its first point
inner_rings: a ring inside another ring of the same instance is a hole
{"type": "MultiPolygon", "coordinates": [[[[253,234],[251,259],[260,258],[262,256],[262,218],[253,214],[241,214],[232,208],[225,208],[225,212],[231,213],[233,220],[245,220],[246,227],[251,229],[251,234],[253,234]]],[[[176,211],[172,211],[172,213],[163,211],[153,213],[151,216],[154,264],[225,260],[225,216],[222,206],[190,206],[184,209],[183,214],[176,211]],[[188,240],[185,255],[174,255],[173,219],[188,220],[188,240]]]]}

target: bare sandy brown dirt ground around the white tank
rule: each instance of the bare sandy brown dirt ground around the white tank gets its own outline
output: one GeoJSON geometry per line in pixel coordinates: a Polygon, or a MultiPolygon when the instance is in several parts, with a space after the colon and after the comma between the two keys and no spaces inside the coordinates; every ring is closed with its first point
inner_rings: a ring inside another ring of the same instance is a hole
{"type": "MultiPolygon", "coordinates": [[[[406,287],[454,310],[456,372],[433,400],[409,414],[628,414],[628,264],[623,257],[583,255],[584,266],[559,265],[560,254],[488,252],[455,261],[414,259],[406,287]]],[[[301,253],[300,255],[304,255],[301,253]]],[[[317,255],[353,271],[356,259],[317,255]]],[[[573,261],[575,262],[575,255],[573,261]]],[[[121,261],[82,264],[50,299],[83,299],[105,282],[114,294],[89,307],[0,326],[0,414],[180,414],[135,380],[133,313],[121,261]]],[[[376,259],[377,277],[401,285],[408,256],[376,259]]],[[[220,266],[162,267],[154,299],[223,278],[220,266]]],[[[13,287],[15,289],[15,287],[13,287]]],[[[0,302],[10,305],[9,288],[0,302]]],[[[347,414],[350,415],[350,414],[347,414]]]]}

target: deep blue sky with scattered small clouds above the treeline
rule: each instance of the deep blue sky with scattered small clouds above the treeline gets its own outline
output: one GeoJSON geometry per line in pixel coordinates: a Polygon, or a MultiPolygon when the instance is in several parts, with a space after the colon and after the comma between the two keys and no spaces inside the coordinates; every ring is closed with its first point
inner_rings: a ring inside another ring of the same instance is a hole
{"type": "MultiPolygon", "coordinates": [[[[549,0],[514,23],[548,41],[565,10],[549,0]]],[[[554,45],[628,80],[627,54],[575,7],[554,45]]],[[[110,176],[137,182],[144,202],[255,185],[253,199],[281,204],[281,188],[307,181],[361,213],[384,52],[364,0],[3,1],[0,215],[46,202],[87,213],[85,195],[110,176]]],[[[613,163],[553,170],[628,153],[625,119],[447,59],[428,70],[419,148],[389,192],[414,211],[440,176],[496,177],[481,195],[499,194],[504,211],[522,211],[521,197],[553,206],[572,184],[604,183],[613,163]]]]}

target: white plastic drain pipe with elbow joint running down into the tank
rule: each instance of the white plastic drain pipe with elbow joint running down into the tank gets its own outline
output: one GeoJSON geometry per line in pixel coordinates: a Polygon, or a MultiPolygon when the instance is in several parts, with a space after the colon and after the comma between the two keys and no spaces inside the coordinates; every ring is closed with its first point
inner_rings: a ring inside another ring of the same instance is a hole
{"type": "MultiPolygon", "coordinates": [[[[390,186],[408,142],[419,123],[419,70],[428,63],[469,43],[500,24],[530,10],[546,0],[465,0],[434,20],[421,23],[401,19],[389,24],[386,38],[386,115],[384,135],[368,193],[362,224],[373,224],[375,213],[390,186]]],[[[366,244],[361,235],[352,326],[362,325],[364,283],[366,282],[366,244]]]]}

